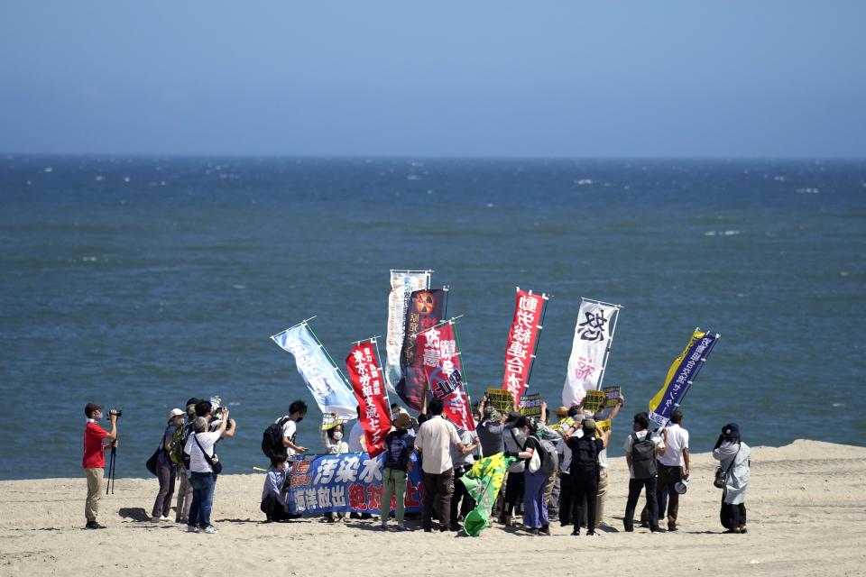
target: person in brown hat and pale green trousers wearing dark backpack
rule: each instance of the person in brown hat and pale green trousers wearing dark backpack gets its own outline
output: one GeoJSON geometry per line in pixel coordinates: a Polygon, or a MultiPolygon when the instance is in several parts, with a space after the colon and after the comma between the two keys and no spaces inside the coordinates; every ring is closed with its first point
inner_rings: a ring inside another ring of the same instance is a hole
{"type": "Polygon", "coordinates": [[[379,518],[382,520],[382,529],[388,528],[388,513],[391,508],[391,498],[394,497],[396,508],[394,518],[397,519],[397,530],[408,530],[403,525],[403,517],[406,511],[406,475],[412,466],[412,444],[415,435],[410,435],[409,429],[412,420],[409,413],[398,412],[394,418],[392,430],[385,435],[385,463],[382,471],[382,507],[379,518]]]}

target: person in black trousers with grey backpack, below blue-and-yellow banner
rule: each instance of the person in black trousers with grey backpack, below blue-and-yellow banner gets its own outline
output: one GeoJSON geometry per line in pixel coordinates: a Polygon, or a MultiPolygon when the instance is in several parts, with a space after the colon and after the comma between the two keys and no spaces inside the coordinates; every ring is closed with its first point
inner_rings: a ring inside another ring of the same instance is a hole
{"type": "Polygon", "coordinates": [[[640,491],[646,489],[647,508],[650,511],[650,531],[664,533],[659,527],[659,503],[656,500],[656,459],[665,453],[663,438],[650,436],[647,427],[650,417],[646,413],[634,416],[634,433],[626,437],[625,462],[629,464],[629,499],[625,506],[625,518],[622,523],[628,533],[634,530],[634,509],[640,499],[640,491]]]}

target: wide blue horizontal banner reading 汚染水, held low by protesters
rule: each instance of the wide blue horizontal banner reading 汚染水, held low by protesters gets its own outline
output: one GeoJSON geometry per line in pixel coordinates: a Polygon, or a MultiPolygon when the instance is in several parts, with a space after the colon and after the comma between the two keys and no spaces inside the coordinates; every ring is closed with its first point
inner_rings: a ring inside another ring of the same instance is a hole
{"type": "MultiPolygon", "coordinates": [[[[289,508],[292,513],[379,513],[385,454],[301,454],[292,457],[289,508]]],[[[420,513],[424,485],[415,454],[406,480],[406,512],[420,513]]],[[[390,504],[394,508],[394,500],[390,504]]],[[[386,507],[387,509],[387,507],[386,507]]],[[[387,517],[387,511],[382,514],[387,517]]]]}

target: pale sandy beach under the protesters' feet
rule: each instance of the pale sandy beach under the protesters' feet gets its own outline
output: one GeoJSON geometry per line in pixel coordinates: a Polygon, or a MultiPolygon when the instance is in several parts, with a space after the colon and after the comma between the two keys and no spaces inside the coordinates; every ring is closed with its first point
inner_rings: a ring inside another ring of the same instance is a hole
{"type": "MultiPolygon", "coordinates": [[[[180,525],[148,520],[155,478],[118,479],[115,494],[101,501],[99,520],[107,528],[88,531],[83,474],[2,481],[0,574],[520,574],[527,568],[571,572],[591,559],[598,572],[611,574],[646,563],[692,575],[866,574],[866,448],[803,440],[754,447],[746,500],[749,533],[742,536],[722,535],[714,466],[709,454],[693,455],[679,532],[608,530],[598,539],[570,536],[570,527],[558,523],[551,525],[551,536],[494,525],[477,538],[425,534],[417,522],[409,524],[418,530],[403,534],[382,533],[377,523],[360,520],[330,525],[311,517],[264,524],[259,474],[220,477],[213,510],[217,535],[187,534],[180,525]]],[[[612,459],[606,520],[616,529],[622,528],[627,478],[624,459],[612,459]]]]}

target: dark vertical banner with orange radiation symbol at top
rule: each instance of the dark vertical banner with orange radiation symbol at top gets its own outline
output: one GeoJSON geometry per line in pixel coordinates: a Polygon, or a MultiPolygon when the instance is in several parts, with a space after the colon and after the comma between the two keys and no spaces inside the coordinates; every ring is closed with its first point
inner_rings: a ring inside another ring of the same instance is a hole
{"type": "Polygon", "coordinates": [[[411,294],[403,330],[400,353],[401,377],[394,389],[406,406],[421,410],[427,373],[424,371],[424,352],[416,346],[415,335],[438,325],[447,312],[448,288],[416,290],[411,294]]]}

